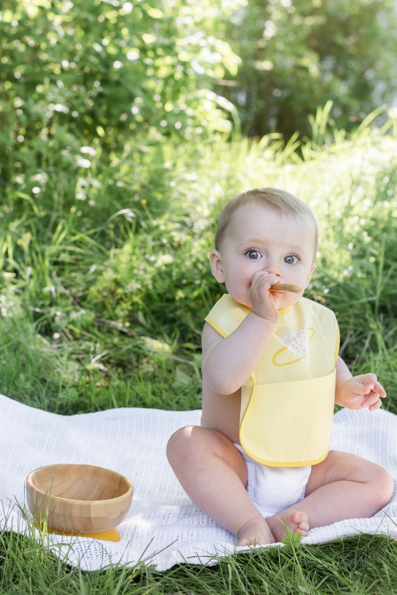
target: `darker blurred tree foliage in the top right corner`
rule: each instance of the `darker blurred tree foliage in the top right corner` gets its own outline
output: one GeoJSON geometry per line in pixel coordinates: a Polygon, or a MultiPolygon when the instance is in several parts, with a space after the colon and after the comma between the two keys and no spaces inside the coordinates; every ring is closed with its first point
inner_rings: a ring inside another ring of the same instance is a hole
{"type": "Polygon", "coordinates": [[[218,91],[245,133],[310,134],[308,114],[329,99],[351,129],[396,95],[396,26],[392,0],[248,0],[228,31],[242,65],[218,91]]]}

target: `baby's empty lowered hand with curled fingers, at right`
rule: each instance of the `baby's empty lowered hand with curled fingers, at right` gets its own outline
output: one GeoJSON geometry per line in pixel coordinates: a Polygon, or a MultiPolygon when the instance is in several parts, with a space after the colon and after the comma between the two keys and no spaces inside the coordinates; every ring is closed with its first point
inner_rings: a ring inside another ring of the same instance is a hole
{"type": "Polygon", "coordinates": [[[375,374],[360,374],[346,380],[340,389],[340,404],[348,409],[376,411],[382,405],[380,397],[386,397],[386,391],[375,374]]]}

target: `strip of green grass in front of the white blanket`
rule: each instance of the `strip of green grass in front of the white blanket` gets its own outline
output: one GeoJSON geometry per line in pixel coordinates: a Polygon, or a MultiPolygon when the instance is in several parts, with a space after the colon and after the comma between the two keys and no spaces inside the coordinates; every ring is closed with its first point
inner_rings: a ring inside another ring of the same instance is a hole
{"type": "Polygon", "coordinates": [[[83,572],[69,568],[33,537],[0,534],[1,593],[76,595],[385,595],[397,593],[397,544],[380,536],[358,536],[318,546],[270,548],[241,553],[202,566],[157,572],[113,567],[83,572]],[[214,565],[214,562],[217,562],[214,565]]]}

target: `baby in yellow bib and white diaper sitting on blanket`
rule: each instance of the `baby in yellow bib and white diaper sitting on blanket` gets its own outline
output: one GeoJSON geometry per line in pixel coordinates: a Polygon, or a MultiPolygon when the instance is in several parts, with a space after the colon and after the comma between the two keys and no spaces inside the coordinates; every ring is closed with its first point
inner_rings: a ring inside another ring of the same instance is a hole
{"type": "Polygon", "coordinates": [[[174,433],[167,456],[239,546],[280,541],[284,523],[305,536],[372,516],[392,496],[385,469],[330,444],[334,403],[375,411],[386,392],[375,374],[352,377],[335,315],[302,297],[317,237],[311,210],[272,188],[236,196],[218,221],[210,264],[227,294],[202,332],[201,426],[174,433]]]}

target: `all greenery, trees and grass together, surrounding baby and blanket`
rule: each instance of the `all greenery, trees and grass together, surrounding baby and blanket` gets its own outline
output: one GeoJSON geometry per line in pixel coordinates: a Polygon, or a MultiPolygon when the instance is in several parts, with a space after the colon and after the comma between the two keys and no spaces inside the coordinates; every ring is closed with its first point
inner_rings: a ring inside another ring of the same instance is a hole
{"type": "MultiPolygon", "coordinates": [[[[199,408],[217,215],[276,186],[319,220],[307,295],[336,311],[343,358],[379,375],[397,413],[396,122],[374,109],[395,84],[387,2],[6,0],[0,17],[0,392],[60,414],[199,408]]],[[[395,553],[369,536],[84,575],[33,534],[1,533],[0,584],[393,593],[395,553]]]]}

